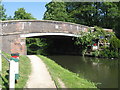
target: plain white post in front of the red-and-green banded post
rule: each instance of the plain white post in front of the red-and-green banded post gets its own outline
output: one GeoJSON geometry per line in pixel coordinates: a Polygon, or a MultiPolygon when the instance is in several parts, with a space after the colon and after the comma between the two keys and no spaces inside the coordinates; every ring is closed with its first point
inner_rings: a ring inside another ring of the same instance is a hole
{"type": "Polygon", "coordinates": [[[9,72],[9,89],[15,88],[15,61],[10,61],[10,72],[9,72]]]}

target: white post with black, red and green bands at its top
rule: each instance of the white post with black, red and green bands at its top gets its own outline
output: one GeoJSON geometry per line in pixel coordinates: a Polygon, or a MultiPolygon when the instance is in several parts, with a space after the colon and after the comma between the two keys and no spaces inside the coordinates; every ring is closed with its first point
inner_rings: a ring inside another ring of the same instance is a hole
{"type": "Polygon", "coordinates": [[[9,88],[15,88],[15,80],[19,78],[19,54],[11,54],[10,73],[9,73],[9,88]]]}

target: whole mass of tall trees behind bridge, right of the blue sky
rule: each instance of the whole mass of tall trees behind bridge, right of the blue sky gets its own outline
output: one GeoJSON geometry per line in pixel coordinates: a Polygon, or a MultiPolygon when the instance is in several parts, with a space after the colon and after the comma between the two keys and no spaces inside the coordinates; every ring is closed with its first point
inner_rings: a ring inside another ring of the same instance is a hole
{"type": "Polygon", "coordinates": [[[119,33],[119,2],[50,2],[43,19],[114,29],[119,33]]]}

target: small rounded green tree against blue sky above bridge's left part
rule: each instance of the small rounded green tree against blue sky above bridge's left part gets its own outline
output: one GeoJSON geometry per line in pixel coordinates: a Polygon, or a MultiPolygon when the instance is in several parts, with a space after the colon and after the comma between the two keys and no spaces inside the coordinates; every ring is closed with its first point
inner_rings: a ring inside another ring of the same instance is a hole
{"type": "Polygon", "coordinates": [[[24,8],[19,8],[14,13],[14,19],[35,19],[30,13],[27,13],[24,8]]]}

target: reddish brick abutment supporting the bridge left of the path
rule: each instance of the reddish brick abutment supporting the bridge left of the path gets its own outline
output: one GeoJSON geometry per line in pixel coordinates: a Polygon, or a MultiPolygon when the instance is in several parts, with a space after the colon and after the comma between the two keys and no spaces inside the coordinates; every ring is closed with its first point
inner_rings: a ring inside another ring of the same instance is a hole
{"type": "Polygon", "coordinates": [[[20,53],[26,55],[26,38],[21,38],[20,35],[3,36],[2,50],[6,53],[20,53]]]}

